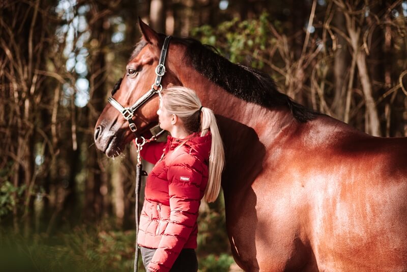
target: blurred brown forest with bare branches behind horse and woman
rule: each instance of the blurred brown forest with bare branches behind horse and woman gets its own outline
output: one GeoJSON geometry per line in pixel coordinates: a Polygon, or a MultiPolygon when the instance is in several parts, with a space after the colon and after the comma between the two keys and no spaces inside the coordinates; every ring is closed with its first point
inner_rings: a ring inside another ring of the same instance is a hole
{"type": "MultiPolygon", "coordinates": [[[[407,1],[1,0],[2,265],[132,269],[135,148],[107,158],[93,132],[138,16],[359,130],[407,135],[407,1]]],[[[222,197],[201,205],[198,244],[200,270],[239,270],[222,197]]]]}

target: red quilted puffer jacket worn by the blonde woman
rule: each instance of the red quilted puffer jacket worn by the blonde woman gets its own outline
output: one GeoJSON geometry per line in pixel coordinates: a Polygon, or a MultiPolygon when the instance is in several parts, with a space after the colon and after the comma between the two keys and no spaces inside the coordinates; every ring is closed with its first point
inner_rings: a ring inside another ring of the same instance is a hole
{"type": "Polygon", "coordinates": [[[148,269],[169,271],[183,248],[196,248],[196,219],[208,183],[210,150],[210,132],[186,139],[168,136],[166,144],[143,146],[141,156],[156,164],[147,178],[137,236],[140,246],[157,249],[148,269]]]}

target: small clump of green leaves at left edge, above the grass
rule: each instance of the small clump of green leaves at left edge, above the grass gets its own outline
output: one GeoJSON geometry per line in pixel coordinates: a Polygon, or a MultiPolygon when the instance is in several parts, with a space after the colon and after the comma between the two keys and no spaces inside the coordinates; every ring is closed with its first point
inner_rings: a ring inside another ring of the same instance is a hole
{"type": "Polygon", "coordinates": [[[24,191],[25,184],[15,187],[11,182],[5,181],[0,185],[0,219],[13,211],[24,191]],[[14,194],[17,199],[14,198],[14,194]]]}

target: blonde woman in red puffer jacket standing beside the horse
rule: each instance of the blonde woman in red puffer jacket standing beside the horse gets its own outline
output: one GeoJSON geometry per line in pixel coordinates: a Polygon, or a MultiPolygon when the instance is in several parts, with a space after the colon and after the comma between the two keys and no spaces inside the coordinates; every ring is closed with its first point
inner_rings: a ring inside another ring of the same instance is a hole
{"type": "Polygon", "coordinates": [[[224,163],[212,110],[185,87],[163,90],[157,111],[166,143],[143,146],[155,164],[147,178],[137,242],[148,271],[197,271],[195,250],[200,200],[216,200],[224,163]]]}

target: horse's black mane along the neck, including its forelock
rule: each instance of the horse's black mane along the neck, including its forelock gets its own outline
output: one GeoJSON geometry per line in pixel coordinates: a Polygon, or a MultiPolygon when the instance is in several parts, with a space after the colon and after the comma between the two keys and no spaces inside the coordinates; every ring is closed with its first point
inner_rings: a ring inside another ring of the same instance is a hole
{"type": "MultiPolygon", "coordinates": [[[[165,37],[163,34],[159,35],[160,38],[165,37]]],[[[185,45],[187,51],[184,61],[227,92],[247,102],[268,108],[288,107],[294,118],[301,123],[315,118],[317,112],[280,93],[268,74],[245,65],[231,63],[222,57],[215,47],[204,45],[195,39],[173,37],[171,41],[185,45]]],[[[143,40],[137,43],[132,57],[137,56],[145,45],[143,40]]]]}

